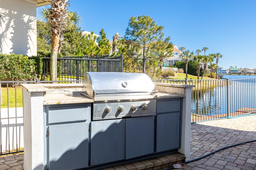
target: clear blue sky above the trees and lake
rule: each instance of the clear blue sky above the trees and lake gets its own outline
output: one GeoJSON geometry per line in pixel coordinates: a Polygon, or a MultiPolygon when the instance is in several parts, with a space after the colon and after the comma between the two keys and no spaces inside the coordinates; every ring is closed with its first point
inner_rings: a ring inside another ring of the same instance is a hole
{"type": "Polygon", "coordinates": [[[221,53],[224,68],[256,68],[255,9],[256,0],[70,0],[69,7],[82,16],[82,29],[103,28],[109,39],[124,36],[130,16],[150,16],[178,47],[221,53]]]}

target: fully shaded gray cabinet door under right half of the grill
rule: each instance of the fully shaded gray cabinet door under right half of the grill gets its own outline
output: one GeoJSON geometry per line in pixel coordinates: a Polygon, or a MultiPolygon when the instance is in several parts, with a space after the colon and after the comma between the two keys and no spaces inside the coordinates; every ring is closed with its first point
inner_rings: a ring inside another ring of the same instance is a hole
{"type": "Polygon", "coordinates": [[[126,159],[154,152],[154,116],[126,119],[126,159]]]}

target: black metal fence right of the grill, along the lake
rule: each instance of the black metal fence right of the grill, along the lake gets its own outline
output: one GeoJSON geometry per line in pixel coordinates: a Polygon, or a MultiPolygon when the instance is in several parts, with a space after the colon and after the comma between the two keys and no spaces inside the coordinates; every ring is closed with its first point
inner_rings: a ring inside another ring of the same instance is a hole
{"type": "Polygon", "coordinates": [[[190,84],[191,122],[234,117],[256,112],[256,78],[222,80],[154,80],[190,84]]]}

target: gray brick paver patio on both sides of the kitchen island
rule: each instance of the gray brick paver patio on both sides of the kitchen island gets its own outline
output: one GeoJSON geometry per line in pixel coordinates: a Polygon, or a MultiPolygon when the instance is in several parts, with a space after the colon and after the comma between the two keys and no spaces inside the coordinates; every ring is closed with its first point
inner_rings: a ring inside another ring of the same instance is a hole
{"type": "MultiPolygon", "coordinates": [[[[191,125],[191,158],[256,139],[256,115],[204,121],[191,125]]],[[[0,158],[0,170],[21,169],[23,154],[0,158]]],[[[256,142],[216,152],[187,164],[184,170],[256,170],[256,142]]]]}

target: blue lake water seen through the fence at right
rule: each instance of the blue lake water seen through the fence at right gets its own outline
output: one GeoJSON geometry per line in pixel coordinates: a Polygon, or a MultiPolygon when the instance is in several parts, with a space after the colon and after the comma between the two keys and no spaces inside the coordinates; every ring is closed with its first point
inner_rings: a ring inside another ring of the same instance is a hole
{"type": "Polygon", "coordinates": [[[229,100],[230,115],[244,114],[256,110],[256,76],[224,75],[227,80],[201,80],[192,95],[192,113],[200,116],[226,116],[229,100]],[[228,93],[227,93],[228,90],[228,93]],[[227,96],[229,95],[229,96],[227,96]]]}

